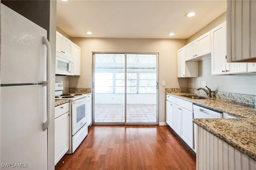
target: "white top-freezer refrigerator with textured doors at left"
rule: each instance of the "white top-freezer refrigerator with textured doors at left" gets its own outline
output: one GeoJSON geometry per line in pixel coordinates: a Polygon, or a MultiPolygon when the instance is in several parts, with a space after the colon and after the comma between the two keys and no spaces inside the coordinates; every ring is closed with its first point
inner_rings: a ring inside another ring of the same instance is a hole
{"type": "Polygon", "coordinates": [[[1,170],[47,169],[51,52],[46,35],[1,4],[1,170]]]}

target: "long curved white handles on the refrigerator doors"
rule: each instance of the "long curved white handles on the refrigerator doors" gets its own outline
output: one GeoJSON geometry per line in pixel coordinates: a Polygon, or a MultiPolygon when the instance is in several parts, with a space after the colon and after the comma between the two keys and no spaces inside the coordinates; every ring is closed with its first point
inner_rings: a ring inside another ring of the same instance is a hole
{"type": "Polygon", "coordinates": [[[44,81],[43,84],[47,84],[47,119],[46,122],[43,123],[43,131],[45,131],[51,121],[52,117],[52,90],[51,90],[51,45],[47,38],[43,36],[43,43],[47,47],[47,81],[44,81]]]}

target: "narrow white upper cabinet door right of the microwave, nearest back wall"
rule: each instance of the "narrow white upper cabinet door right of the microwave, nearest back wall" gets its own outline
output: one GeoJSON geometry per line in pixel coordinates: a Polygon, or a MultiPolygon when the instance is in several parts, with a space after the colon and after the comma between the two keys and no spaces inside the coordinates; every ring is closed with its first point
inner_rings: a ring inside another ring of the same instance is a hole
{"type": "Polygon", "coordinates": [[[74,57],[74,75],[80,75],[81,48],[72,43],[71,56],[74,57]]]}

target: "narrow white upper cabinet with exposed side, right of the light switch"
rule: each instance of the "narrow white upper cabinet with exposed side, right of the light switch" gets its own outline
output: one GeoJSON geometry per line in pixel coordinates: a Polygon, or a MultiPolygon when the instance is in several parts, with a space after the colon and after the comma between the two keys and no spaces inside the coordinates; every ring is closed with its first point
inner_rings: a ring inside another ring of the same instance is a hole
{"type": "Polygon", "coordinates": [[[185,61],[185,47],[177,51],[177,77],[198,77],[198,61],[185,61]]]}

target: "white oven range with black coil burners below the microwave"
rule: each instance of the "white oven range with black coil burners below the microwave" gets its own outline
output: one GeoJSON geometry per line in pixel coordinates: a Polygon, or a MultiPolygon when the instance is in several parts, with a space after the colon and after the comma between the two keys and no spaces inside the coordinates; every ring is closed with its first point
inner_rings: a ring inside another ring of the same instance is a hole
{"type": "Polygon", "coordinates": [[[55,83],[55,99],[70,100],[71,119],[69,127],[69,150],[67,154],[72,154],[78,148],[82,140],[88,134],[86,103],[87,95],[82,94],[62,94],[63,84],[55,83]]]}

